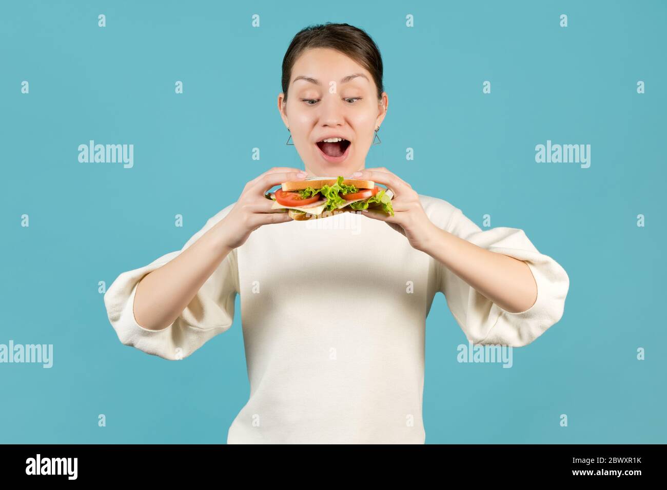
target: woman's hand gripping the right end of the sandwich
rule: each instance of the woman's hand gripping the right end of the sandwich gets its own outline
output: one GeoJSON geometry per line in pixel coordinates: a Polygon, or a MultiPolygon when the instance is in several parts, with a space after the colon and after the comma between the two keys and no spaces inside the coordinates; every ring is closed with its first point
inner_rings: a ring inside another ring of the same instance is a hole
{"type": "Polygon", "coordinates": [[[435,225],[426,216],[419,196],[412,190],[410,184],[385,167],[363,169],[348,178],[367,179],[391,189],[394,192],[392,199],[394,216],[384,213],[381,209],[368,209],[363,212],[364,215],[385,221],[390,227],[405,235],[414,249],[426,250],[426,244],[435,225]]]}

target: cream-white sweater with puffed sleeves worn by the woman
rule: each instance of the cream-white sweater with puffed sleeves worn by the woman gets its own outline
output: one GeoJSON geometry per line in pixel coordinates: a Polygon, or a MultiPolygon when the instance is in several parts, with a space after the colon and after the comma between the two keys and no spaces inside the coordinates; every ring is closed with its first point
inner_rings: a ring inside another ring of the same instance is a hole
{"type": "Polygon", "coordinates": [[[570,281],[521,229],[482,231],[447,201],[420,200],[438,227],[527,261],[536,303],[504,311],[383,221],[343,213],[260,227],[159,331],[137,324],[136,286],[182,250],[121,273],[104,296],[109,321],[121,343],[182,359],[231,327],[239,294],[250,398],[227,443],[422,444],[424,333],[434,295],[444,293],[469,342],[520,347],[560,320],[570,281]]]}

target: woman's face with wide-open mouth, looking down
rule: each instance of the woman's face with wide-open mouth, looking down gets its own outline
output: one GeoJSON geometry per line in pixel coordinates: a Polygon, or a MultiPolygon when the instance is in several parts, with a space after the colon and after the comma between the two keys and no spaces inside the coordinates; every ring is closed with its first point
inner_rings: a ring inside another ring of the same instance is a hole
{"type": "Polygon", "coordinates": [[[312,48],[294,63],[278,109],[309,176],[336,177],[363,169],[388,98],[371,74],[340,51],[312,48]],[[357,76],[355,76],[357,75],[357,76]],[[341,143],[323,139],[341,137],[341,143]]]}

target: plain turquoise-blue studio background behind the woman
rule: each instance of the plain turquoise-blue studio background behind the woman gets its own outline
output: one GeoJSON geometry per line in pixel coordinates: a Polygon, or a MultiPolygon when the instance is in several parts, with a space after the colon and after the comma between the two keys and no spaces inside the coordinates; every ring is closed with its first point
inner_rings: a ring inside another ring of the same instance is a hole
{"type": "Polygon", "coordinates": [[[54,365],[0,364],[0,442],[226,441],[249,395],[239,299],[229,331],[173,362],[121,345],[97,283],[181,249],[266,169],[302,167],[276,108],[281,61],[299,29],[331,21],[365,29],[384,58],[389,110],[366,166],[480,226],[489,213],[524,229],[570,276],[561,321],[514,349],[512,369],[458,363],[467,340],[436,297],[426,442],[665,443],[666,13],[662,1],[3,1],[0,343],[53,344],[54,365]],[[134,167],[79,163],[90,139],[134,144],[134,167]],[[590,168],[536,163],[548,139],[590,144],[590,168]]]}

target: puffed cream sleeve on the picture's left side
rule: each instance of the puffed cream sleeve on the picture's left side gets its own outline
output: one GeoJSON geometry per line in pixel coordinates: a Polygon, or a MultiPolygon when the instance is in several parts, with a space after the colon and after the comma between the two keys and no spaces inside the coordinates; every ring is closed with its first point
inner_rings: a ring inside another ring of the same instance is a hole
{"type": "Polygon", "coordinates": [[[139,281],[195,243],[222,219],[231,207],[233,204],[211,217],[204,227],[185,243],[183,249],[167,253],[138,269],[123,272],[113,281],[104,295],[104,303],[109,322],[121,343],[173,361],[184,359],[211,337],[231,327],[234,301],[239,290],[236,249],[221,261],[219,267],[203,283],[197,295],[171,325],[161,330],[145,329],[137,323],[133,311],[139,281]]]}

